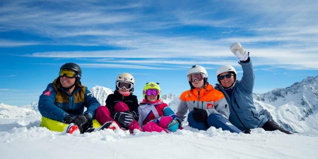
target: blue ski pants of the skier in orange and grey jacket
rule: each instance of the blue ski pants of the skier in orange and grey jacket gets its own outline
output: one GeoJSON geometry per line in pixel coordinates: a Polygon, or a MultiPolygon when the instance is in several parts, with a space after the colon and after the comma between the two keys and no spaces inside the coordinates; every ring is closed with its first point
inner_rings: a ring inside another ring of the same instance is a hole
{"type": "Polygon", "coordinates": [[[193,119],[193,110],[192,110],[188,114],[188,122],[190,127],[196,128],[199,130],[207,130],[211,126],[214,126],[217,129],[221,128],[222,130],[229,130],[231,133],[242,132],[236,126],[232,125],[227,118],[217,113],[210,114],[206,122],[198,122],[193,119]]]}

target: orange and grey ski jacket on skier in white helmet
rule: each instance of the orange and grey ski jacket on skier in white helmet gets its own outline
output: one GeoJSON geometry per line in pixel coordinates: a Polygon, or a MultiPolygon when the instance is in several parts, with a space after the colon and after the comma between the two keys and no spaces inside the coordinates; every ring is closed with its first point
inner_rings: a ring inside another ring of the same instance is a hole
{"type": "Polygon", "coordinates": [[[188,110],[192,111],[196,107],[206,110],[208,115],[219,113],[229,119],[230,110],[228,105],[223,93],[214,89],[207,82],[205,87],[189,89],[180,95],[180,103],[176,115],[184,119],[188,110]]]}

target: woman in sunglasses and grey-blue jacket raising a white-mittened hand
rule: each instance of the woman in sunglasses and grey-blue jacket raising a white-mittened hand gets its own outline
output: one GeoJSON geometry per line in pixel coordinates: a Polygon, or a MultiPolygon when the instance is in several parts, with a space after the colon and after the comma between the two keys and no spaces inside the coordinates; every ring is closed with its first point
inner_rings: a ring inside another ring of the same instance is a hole
{"type": "Polygon", "coordinates": [[[291,134],[256,110],[252,94],[254,70],[249,53],[240,43],[234,43],[231,51],[239,58],[239,65],[243,69],[242,79],[237,79],[237,71],[233,66],[224,65],[217,70],[219,83],[215,86],[223,92],[230,105],[230,122],[245,133],[249,133],[253,128],[263,128],[266,131],[279,130],[291,134]]]}

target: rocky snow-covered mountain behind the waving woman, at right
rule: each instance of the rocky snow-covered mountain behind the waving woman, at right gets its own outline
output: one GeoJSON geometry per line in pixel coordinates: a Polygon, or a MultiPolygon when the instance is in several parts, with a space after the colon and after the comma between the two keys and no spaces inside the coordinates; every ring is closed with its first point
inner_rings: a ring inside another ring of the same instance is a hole
{"type": "Polygon", "coordinates": [[[254,102],[285,129],[318,132],[318,76],[286,88],[254,94],[254,102]]]}

